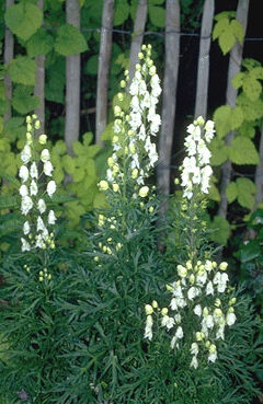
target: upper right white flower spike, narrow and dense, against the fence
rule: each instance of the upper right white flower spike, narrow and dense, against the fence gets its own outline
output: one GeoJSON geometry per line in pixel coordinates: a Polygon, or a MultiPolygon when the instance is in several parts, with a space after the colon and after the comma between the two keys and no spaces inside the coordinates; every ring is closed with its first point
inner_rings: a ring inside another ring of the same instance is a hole
{"type": "Polygon", "coordinates": [[[190,134],[184,141],[187,155],[183,160],[181,173],[181,186],[183,187],[183,196],[187,199],[193,197],[195,187],[201,192],[208,194],[209,178],[213,173],[209,165],[210,151],[207,143],[214,137],[214,122],[205,120],[199,116],[193,124],[187,127],[190,134]]]}

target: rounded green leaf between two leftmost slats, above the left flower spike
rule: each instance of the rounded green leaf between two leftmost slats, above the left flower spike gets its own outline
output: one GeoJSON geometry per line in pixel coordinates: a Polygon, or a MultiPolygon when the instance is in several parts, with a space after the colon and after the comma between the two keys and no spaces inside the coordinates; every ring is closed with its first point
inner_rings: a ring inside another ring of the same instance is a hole
{"type": "Polygon", "coordinates": [[[9,65],[8,73],[14,83],[35,85],[36,62],[25,56],[19,56],[9,65]]]}

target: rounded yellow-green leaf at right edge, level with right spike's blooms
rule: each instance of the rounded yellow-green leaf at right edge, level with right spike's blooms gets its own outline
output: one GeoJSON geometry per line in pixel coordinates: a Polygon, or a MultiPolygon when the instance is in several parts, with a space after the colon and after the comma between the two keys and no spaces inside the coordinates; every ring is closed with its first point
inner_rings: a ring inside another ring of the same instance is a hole
{"type": "Polygon", "coordinates": [[[254,143],[249,139],[237,136],[231,145],[228,147],[228,157],[239,165],[243,164],[259,164],[259,153],[254,143]]]}

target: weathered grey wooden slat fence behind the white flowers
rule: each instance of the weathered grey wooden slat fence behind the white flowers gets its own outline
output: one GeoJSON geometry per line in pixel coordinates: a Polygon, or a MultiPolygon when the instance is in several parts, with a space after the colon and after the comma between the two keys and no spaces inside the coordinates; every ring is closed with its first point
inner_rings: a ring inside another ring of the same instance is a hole
{"type": "MultiPolygon", "coordinates": [[[[237,20],[242,24],[243,31],[247,30],[247,21],[249,13],[249,0],[239,0],[237,8],[237,20]]],[[[5,8],[13,4],[13,0],[5,0],[5,8]]],[[[134,76],[137,55],[144,41],[144,33],[147,21],[148,0],[139,0],[134,23],[134,33],[130,43],[130,59],[129,59],[129,77],[134,76]]],[[[43,9],[43,0],[38,0],[38,7],[43,9]]],[[[158,189],[164,195],[170,193],[170,166],[171,152],[174,142],[174,124],[176,112],[176,89],[180,67],[180,1],[165,1],[167,18],[165,18],[165,34],[164,34],[164,78],[162,92],[162,125],[159,136],[159,164],[157,169],[158,189]]],[[[107,125],[107,88],[108,72],[112,54],[112,32],[114,21],[115,4],[114,0],[104,0],[102,13],[100,57],[96,83],[96,118],[95,118],[95,141],[101,142],[101,135],[107,125]]],[[[209,51],[211,41],[211,30],[215,12],[215,1],[205,0],[202,13],[202,26],[199,35],[199,54],[197,67],[197,82],[195,94],[195,112],[197,117],[207,116],[207,94],[209,83],[209,51]]],[[[66,20],[68,23],[80,30],[80,5],[79,0],[66,0],[66,20]]],[[[4,37],[4,64],[9,64],[13,58],[13,35],[5,27],[4,37]]],[[[226,103],[231,106],[236,105],[237,90],[231,84],[231,79],[240,71],[242,60],[243,43],[236,43],[229,59],[228,83],[226,91],[226,103]]],[[[41,118],[42,125],[45,126],[45,56],[41,56],[37,62],[37,85],[35,86],[35,95],[41,100],[41,107],[36,113],[41,118]]],[[[80,126],[80,54],[66,57],[66,127],[65,140],[68,152],[72,153],[72,141],[79,138],[80,126]]],[[[12,97],[12,83],[8,76],[4,79],[5,95],[9,100],[12,97]]],[[[5,114],[5,119],[11,116],[11,109],[5,114]]],[[[229,145],[235,137],[231,131],[226,136],[226,145],[229,145]]],[[[263,145],[260,146],[260,154],[263,154],[263,145]]],[[[220,196],[218,213],[226,218],[228,210],[228,201],[226,189],[231,177],[231,162],[228,160],[221,169],[220,196]]],[[[262,201],[262,165],[255,172],[256,184],[256,201],[262,201]]]]}

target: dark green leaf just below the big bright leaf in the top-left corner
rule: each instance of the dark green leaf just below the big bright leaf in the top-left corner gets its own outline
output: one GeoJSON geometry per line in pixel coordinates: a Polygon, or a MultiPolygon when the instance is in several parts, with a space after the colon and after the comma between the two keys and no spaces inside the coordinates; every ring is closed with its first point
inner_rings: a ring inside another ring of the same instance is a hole
{"type": "Polygon", "coordinates": [[[27,55],[32,58],[48,54],[54,46],[53,36],[44,28],[39,28],[26,43],[27,55]]]}

